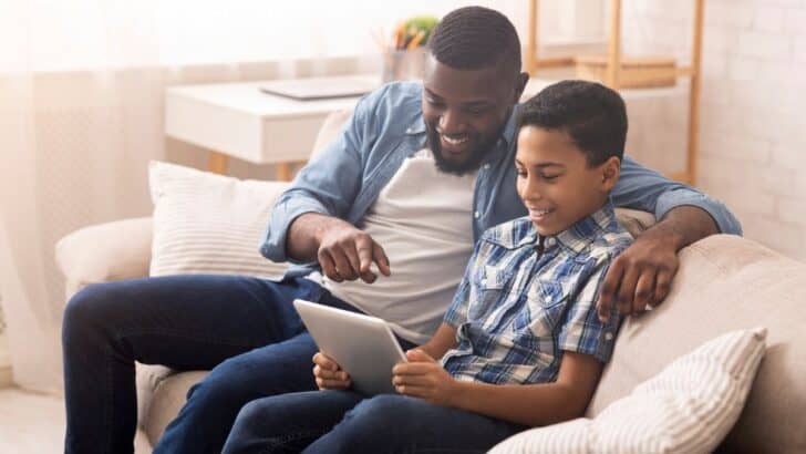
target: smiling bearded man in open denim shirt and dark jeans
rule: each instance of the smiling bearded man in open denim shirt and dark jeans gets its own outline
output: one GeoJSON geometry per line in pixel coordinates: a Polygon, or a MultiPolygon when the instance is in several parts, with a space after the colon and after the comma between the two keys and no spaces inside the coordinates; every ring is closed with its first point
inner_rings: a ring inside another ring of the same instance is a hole
{"type": "MultiPolygon", "coordinates": [[[[474,241],[526,215],[515,190],[513,112],[527,74],[514,27],[493,10],[447,14],[428,45],[423,84],[390,84],[359,102],[341,135],[278,200],[260,251],[298,265],[282,281],[137,279],[92,286],[70,301],[66,452],[132,451],[135,360],[213,369],[155,453],[218,452],[247,402],[317,389],[317,348],[294,298],[386,319],[404,348],[434,332],[474,241]]],[[[678,250],[740,233],[721,204],[629,158],[612,198],[660,221],[613,261],[602,317],[613,303],[622,313],[659,303],[678,250]]]]}

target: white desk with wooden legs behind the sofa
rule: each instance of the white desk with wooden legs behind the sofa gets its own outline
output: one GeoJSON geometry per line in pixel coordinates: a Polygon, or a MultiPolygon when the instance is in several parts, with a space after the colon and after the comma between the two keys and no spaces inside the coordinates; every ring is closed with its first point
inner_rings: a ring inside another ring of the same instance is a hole
{"type": "MultiPolygon", "coordinates": [[[[362,78],[380,83],[378,76],[362,78]]],[[[211,172],[226,173],[231,156],[255,164],[277,164],[278,178],[289,180],[290,164],[308,161],[324,117],[352,109],[358,97],[296,101],[261,92],[262,83],[167,89],[165,134],[210,149],[211,172]]]]}

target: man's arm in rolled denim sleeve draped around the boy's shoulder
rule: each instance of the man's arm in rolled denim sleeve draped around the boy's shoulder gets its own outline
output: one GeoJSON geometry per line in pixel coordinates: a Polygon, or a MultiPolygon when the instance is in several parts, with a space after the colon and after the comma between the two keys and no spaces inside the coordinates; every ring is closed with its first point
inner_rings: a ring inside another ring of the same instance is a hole
{"type": "Polygon", "coordinates": [[[653,213],[658,224],[611,265],[597,307],[602,320],[616,305],[621,314],[642,313],[669,293],[678,271],[678,251],[706,236],[741,235],[738,220],[720,202],[624,158],[612,193],[617,206],[653,213]]]}

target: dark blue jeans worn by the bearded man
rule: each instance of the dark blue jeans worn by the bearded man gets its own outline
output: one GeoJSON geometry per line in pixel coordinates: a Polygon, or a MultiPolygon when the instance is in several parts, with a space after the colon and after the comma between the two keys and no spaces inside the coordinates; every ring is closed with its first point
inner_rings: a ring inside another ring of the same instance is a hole
{"type": "Polygon", "coordinates": [[[355,310],[317,283],[239,276],[172,276],[93,285],[62,327],[66,453],[131,453],[134,361],[211,372],[190,389],[155,454],[216,453],[238,411],[316,389],[317,351],[291,301],[355,310]]]}

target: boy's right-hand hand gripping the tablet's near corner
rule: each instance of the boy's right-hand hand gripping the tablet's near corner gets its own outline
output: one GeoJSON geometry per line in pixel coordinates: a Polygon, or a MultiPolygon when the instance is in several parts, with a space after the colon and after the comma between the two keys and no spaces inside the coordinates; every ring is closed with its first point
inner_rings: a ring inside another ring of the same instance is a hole
{"type": "Polygon", "coordinates": [[[409,350],[410,362],[392,369],[392,384],[399,393],[450,406],[456,392],[456,380],[433,358],[420,349],[409,350]]]}

